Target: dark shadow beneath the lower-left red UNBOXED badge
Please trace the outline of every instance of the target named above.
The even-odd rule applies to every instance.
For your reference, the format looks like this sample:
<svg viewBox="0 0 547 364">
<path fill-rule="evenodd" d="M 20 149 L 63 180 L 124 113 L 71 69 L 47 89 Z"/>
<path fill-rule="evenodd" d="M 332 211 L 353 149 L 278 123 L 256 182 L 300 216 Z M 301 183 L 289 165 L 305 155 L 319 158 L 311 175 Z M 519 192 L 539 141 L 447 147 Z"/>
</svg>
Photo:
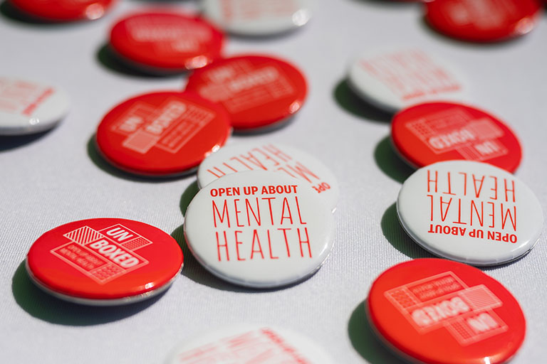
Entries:
<svg viewBox="0 0 547 364">
<path fill-rule="evenodd" d="M 120 306 L 73 304 L 51 296 L 36 287 L 36 284 L 28 277 L 25 262 L 21 262 L 16 269 L 11 280 L 11 292 L 21 309 L 36 319 L 68 326 L 90 326 L 125 319 L 147 309 L 165 294 L 164 291 L 145 301 Z"/>
</svg>

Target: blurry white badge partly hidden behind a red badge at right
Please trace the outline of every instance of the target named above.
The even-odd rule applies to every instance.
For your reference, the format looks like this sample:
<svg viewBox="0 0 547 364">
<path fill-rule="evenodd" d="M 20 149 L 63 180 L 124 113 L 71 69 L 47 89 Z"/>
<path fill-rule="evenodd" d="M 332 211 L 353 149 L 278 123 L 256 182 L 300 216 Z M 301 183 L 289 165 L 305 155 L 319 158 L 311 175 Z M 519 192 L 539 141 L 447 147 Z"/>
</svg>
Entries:
<svg viewBox="0 0 547 364">
<path fill-rule="evenodd" d="M 432 100 L 463 100 L 468 89 L 456 68 L 420 49 L 363 53 L 350 65 L 348 85 L 387 112 Z"/>
</svg>

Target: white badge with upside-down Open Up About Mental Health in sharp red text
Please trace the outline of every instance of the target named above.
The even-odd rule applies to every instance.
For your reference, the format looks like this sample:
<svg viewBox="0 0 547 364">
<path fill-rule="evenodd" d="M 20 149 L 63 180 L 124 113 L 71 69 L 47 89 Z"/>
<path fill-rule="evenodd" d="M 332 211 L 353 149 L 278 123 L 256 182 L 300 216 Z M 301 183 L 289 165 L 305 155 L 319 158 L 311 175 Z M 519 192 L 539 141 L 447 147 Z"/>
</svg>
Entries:
<svg viewBox="0 0 547 364">
<path fill-rule="evenodd" d="M 543 227 L 533 192 L 511 173 L 475 161 L 417 170 L 397 198 L 402 227 L 435 255 L 496 265 L 526 255 Z"/>
</svg>

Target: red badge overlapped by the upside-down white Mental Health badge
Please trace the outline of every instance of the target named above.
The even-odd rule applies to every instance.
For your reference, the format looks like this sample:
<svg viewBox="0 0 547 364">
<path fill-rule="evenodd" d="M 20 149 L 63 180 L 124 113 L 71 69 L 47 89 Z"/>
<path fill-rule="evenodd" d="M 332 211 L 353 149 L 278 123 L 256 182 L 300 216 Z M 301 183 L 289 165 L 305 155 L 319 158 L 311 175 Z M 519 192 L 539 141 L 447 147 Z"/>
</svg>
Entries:
<svg viewBox="0 0 547 364">
<path fill-rule="evenodd" d="M 521 144 L 514 132 L 486 112 L 461 104 L 432 102 L 395 115 L 391 138 L 403 159 L 416 167 L 467 159 L 514 172 Z"/>
</svg>

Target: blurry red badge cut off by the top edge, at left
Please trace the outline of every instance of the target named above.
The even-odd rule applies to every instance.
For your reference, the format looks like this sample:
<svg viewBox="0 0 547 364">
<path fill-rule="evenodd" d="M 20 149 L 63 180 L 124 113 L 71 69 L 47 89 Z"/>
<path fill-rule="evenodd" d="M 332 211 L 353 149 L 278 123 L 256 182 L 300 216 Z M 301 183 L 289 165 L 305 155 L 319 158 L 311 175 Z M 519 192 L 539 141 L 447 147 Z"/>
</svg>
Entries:
<svg viewBox="0 0 547 364">
<path fill-rule="evenodd" d="M 10 0 L 16 8 L 50 21 L 94 20 L 100 18 L 117 0 Z"/>
</svg>

